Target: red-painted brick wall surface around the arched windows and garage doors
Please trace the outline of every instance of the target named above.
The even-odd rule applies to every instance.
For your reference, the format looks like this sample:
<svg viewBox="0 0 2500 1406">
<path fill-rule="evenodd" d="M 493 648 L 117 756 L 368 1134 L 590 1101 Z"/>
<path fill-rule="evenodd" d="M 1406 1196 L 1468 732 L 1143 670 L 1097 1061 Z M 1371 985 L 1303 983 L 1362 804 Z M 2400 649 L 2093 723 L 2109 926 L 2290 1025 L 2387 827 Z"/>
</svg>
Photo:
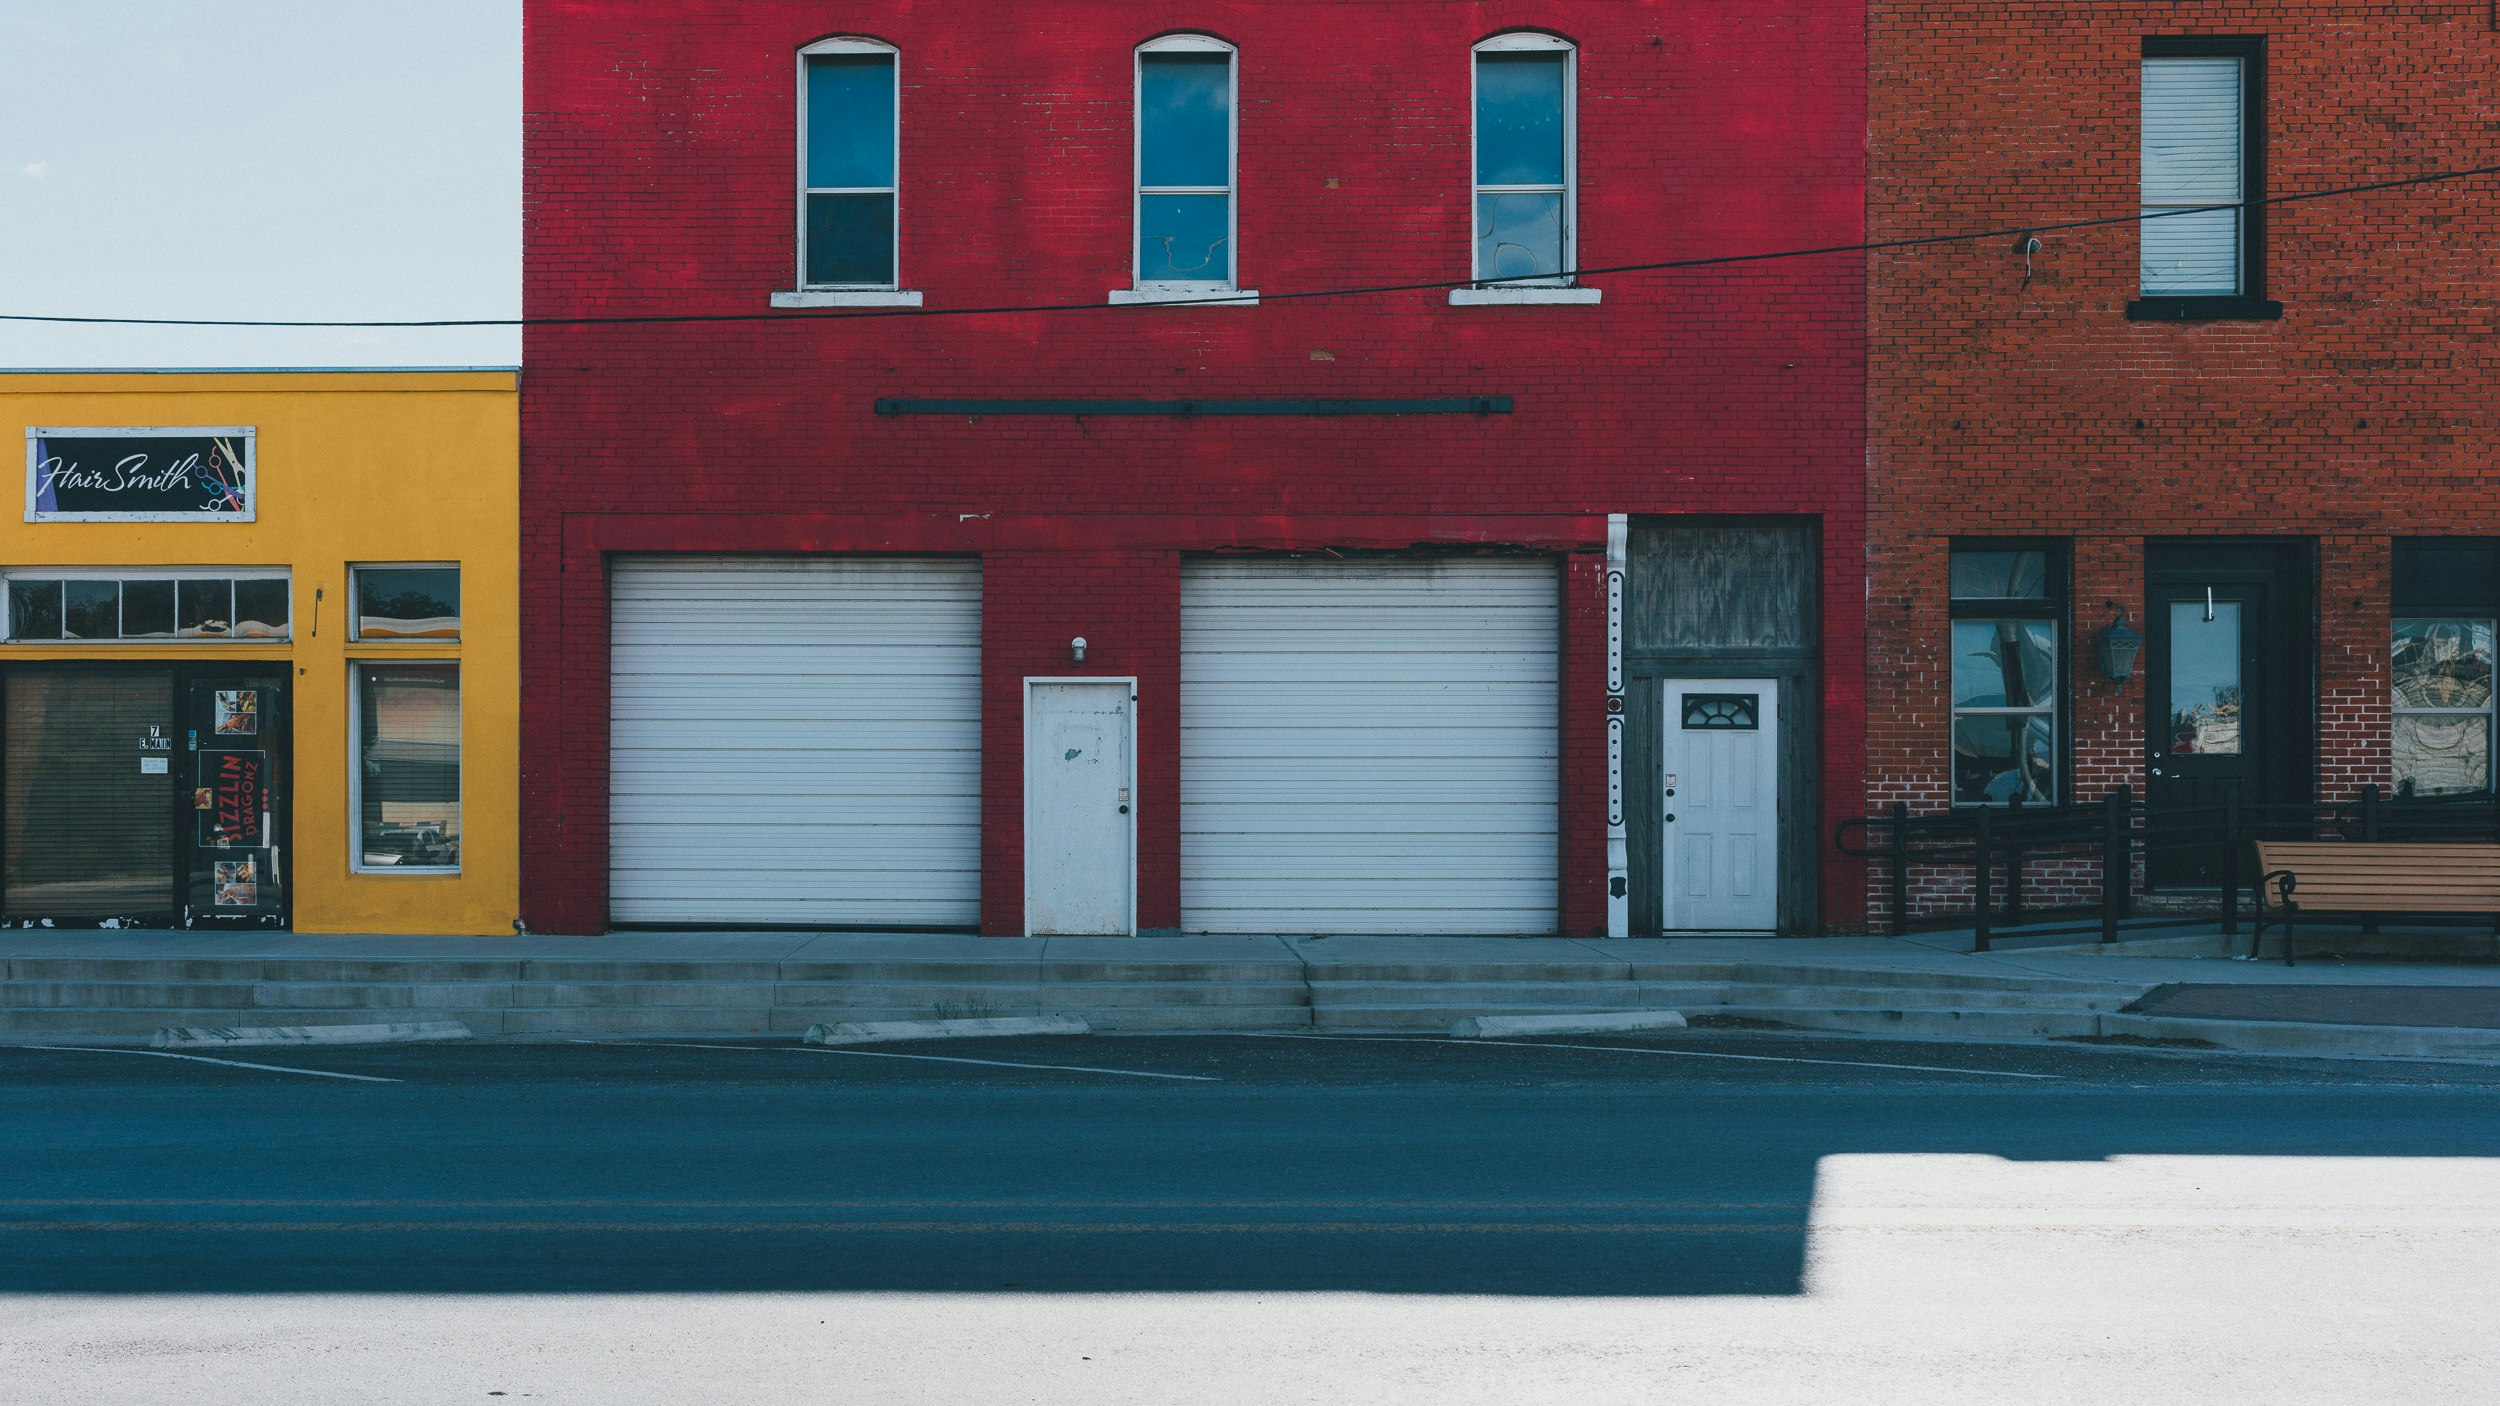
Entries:
<svg viewBox="0 0 2500 1406">
<path fill-rule="evenodd" d="M 900 48 L 900 275 L 948 313 L 528 333 L 532 926 L 605 926 L 610 550 L 982 553 L 992 603 L 1015 583 L 1015 608 L 985 633 L 998 748 L 1018 736 L 998 711 L 1012 680 L 1050 663 L 1068 633 L 1092 638 L 1078 620 L 1140 630 L 1118 673 L 1175 678 L 1178 603 L 1160 583 L 1180 550 L 1480 540 L 1572 553 L 1602 545 L 1605 513 L 1812 515 L 1830 600 L 1825 823 L 1855 811 L 1858 258 L 1602 275 L 1590 280 L 1605 290 L 1598 308 L 1450 308 L 1440 290 L 1282 298 L 1468 275 L 1470 45 L 1508 28 L 1580 45 L 1582 265 L 1858 240 L 1855 3 L 882 0 L 832 13 L 800 0 L 528 0 L 525 25 L 532 315 L 765 313 L 792 285 L 795 50 L 832 33 Z M 1170 30 L 1240 45 L 1238 263 L 1240 283 L 1268 295 L 1260 308 L 1105 305 L 1132 260 L 1132 48 Z M 1000 305 L 1062 310 L 952 315 Z M 872 413 L 880 395 L 1478 393 L 1512 395 L 1518 410 Z M 1125 605 L 1122 573 L 1135 590 Z M 1578 590 L 1580 568 L 1570 580 Z M 1582 608 L 1575 595 L 1565 645 L 1572 931 L 1602 923 L 1602 678 L 1580 683 Z M 1602 620 L 1595 638 L 1602 668 Z M 1178 771 L 1155 753 L 1178 751 L 1178 733 L 1152 738 L 1172 721 L 1170 698 L 1140 708 L 1145 771 Z M 1018 753 L 1008 746 L 985 771 L 990 931 L 1018 926 Z M 1140 918 L 1178 921 L 1178 878 L 1152 853 L 1165 841 L 1142 833 L 1140 846 Z M 1852 866 L 1832 863 L 1825 906 L 1860 908 Z"/>
</svg>

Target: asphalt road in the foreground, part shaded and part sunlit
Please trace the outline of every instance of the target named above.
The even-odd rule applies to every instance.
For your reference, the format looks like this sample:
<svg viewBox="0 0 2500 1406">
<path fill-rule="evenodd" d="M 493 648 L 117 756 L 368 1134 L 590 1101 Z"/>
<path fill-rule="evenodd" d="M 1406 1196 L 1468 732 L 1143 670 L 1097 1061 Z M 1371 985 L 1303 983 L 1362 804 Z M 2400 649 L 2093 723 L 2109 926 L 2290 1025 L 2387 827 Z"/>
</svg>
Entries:
<svg viewBox="0 0 2500 1406">
<path fill-rule="evenodd" d="M 2500 1393 L 2492 1068 L 1758 1033 L 215 1058 L 0 1048 L 0 1401 Z"/>
</svg>

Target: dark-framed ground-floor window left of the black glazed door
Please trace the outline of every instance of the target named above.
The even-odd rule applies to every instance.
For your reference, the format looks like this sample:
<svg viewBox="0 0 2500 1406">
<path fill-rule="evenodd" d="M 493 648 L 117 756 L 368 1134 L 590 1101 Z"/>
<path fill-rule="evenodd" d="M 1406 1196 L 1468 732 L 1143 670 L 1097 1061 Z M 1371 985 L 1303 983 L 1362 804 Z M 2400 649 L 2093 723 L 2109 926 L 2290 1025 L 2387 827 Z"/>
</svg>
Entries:
<svg viewBox="0 0 2500 1406">
<path fill-rule="evenodd" d="M 1952 801 L 2058 798 L 2058 645 L 2065 553 L 2055 543 L 1952 548 Z"/>
</svg>

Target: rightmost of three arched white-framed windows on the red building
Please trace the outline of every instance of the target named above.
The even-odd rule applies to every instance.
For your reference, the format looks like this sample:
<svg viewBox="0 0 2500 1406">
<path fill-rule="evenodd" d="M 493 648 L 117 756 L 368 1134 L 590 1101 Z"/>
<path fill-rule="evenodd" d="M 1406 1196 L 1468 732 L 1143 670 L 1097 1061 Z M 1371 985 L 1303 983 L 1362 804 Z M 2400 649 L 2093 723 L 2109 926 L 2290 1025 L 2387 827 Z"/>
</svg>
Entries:
<svg viewBox="0 0 2500 1406">
<path fill-rule="evenodd" d="M 1515 33 L 1475 45 L 1475 278 L 1570 283 L 1572 128 L 1570 43 Z"/>
</svg>

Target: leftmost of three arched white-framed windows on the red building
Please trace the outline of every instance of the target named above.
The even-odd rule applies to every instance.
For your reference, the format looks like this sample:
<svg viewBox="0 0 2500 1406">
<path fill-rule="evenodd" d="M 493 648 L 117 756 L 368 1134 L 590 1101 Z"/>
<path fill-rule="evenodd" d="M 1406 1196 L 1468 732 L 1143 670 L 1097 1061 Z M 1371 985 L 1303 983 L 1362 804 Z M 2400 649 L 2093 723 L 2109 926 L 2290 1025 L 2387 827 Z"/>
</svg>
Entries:
<svg viewBox="0 0 2500 1406">
<path fill-rule="evenodd" d="M 895 288 L 895 50 L 800 50 L 800 288 Z"/>
</svg>

